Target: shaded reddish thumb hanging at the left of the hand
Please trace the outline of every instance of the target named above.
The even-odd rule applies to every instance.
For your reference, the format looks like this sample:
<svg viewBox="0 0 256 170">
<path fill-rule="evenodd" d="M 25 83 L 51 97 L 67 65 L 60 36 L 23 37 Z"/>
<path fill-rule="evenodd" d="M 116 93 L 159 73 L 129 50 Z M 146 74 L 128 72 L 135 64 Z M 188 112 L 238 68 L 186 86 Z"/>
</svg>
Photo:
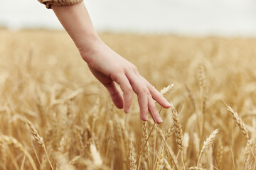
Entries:
<svg viewBox="0 0 256 170">
<path fill-rule="evenodd" d="M 104 84 L 107 88 L 107 91 L 110 92 L 110 97 L 117 108 L 123 108 L 124 102 L 120 91 L 117 89 L 117 86 L 112 81 L 110 84 Z"/>
</svg>

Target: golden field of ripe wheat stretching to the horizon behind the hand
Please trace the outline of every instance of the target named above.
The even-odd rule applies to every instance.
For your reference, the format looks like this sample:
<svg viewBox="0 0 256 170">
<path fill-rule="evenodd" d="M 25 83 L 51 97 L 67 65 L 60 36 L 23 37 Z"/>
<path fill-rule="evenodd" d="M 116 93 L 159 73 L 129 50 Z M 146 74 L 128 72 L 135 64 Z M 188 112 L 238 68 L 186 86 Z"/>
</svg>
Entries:
<svg viewBox="0 0 256 170">
<path fill-rule="evenodd" d="M 172 104 L 112 104 L 62 31 L 0 30 L 0 169 L 255 169 L 256 39 L 100 33 Z M 162 90 L 161 90 L 162 89 Z"/>
</svg>

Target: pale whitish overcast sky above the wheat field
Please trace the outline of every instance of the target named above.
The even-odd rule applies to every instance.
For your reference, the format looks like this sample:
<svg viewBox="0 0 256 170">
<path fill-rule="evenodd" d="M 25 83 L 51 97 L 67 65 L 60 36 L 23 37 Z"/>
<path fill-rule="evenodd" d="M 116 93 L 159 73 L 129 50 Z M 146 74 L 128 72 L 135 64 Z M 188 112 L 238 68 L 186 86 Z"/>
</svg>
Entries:
<svg viewBox="0 0 256 170">
<path fill-rule="evenodd" d="M 85 0 L 97 31 L 256 37 L 255 0 Z M 0 26 L 63 29 L 36 0 L 0 0 Z"/>
</svg>

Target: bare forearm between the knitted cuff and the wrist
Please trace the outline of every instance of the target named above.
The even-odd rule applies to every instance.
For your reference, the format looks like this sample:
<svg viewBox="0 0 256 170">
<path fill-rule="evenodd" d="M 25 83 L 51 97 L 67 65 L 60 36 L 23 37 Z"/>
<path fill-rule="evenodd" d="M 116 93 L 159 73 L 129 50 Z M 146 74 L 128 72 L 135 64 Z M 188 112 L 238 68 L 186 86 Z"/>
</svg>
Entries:
<svg viewBox="0 0 256 170">
<path fill-rule="evenodd" d="M 93 48 L 92 46 L 97 44 L 96 42 L 101 41 L 92 26 L 92 21 L 84 3 L 81 2 L 73 6 L 51 7 L 80 52 L 90 50 Z"/>
</svg>

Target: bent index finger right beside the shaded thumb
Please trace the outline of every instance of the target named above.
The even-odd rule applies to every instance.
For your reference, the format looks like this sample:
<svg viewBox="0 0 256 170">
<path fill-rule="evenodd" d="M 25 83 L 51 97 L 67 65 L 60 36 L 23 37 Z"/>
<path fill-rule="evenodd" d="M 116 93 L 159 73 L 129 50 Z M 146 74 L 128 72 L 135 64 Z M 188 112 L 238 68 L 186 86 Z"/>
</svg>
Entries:
<svg viewBox="0 0 256 170">
<path fill-rule="evenodd" d="M 117 84 L 123 91 L 124 96 L 124 112 L 129 113 L 132 105 L 132 86 L 125 75 L 117 77 Z"/>
</svg>

